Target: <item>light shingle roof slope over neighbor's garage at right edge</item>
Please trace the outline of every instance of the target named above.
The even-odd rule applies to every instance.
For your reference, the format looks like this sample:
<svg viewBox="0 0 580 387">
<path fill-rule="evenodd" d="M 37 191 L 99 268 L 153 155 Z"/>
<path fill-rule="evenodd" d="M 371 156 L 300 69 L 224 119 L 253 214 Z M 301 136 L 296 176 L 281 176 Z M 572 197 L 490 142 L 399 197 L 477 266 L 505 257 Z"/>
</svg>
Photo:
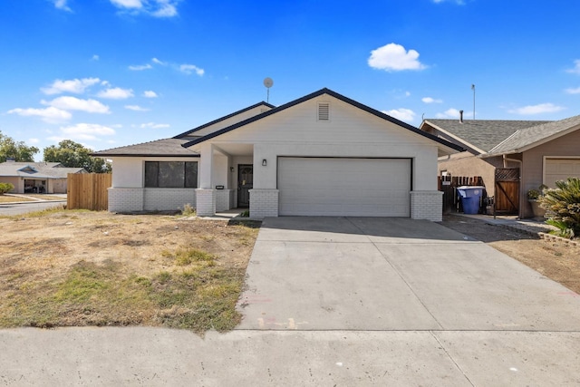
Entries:
<svg viewBox="0 0 580 387">
<path fill-rule="evenodd" d="M 520 153 L 579 129 L 580 115 L 520 129 L 489 150 L 486 156 Z"/>
</svg>

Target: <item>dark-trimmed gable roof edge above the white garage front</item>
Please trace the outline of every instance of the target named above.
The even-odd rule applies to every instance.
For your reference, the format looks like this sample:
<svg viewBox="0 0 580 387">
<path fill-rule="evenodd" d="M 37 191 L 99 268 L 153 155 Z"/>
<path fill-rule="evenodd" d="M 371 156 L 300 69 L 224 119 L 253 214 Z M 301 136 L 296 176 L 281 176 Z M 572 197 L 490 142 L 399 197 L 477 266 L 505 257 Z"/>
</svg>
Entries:
<svg viewBox="0 0 580 387">
<path fill-rule="evenodd" d="M 189 148 L 190 146 L 196 145 L 196 144 L 198 144 L 200 142 L 204 142 L 204 141 L 207 141 L 207 140 L 211 140 L 211 139 L 213 139 L 215 137 L 218 137 L 221 134 L 227 133 L 228 131 L 234 131 L 237 128 L 246 126 L 246 125 L 248 125 L 248 124 L 250 124 L 252 122 L 258 121 L 258 120 L 262 120 L 262 119 L 264 119 L 264 118 L 266 118 L 266 117 L 268 117 L 268 116 L 270 116 L 272 114 L 275 114 L 275 113 L 277 113 L 279 111 L 285 111 L 286 109 L 291 108 L 291 107 L 293 107 L 293 106 L 295 106 L 295 105 L 297 105 L 299 103 L 306 102 L 308 100 L 312 100 L 313 98 L 319 97 L 319 96 L 321 96 L 323 94 L 330 95 L 330 96 L 336 98 L 337 100 L 340 100 L 342 102 L 348 103 L 348 104 L 350 104 L 350 105 L 352 105 L 352 106 L 354 106 L 354 107 L 356 107 L 358 109 L 361 109 L 362 111 L 369 112 L 372 115 L 374 115 L 376 117 L 379 117 L 382 120 L 391 121 L 392 123 L 395 123 L 396 125 L 401 126 L 402 128 L 405 128 L 405 129 L 407 129 L 409 131 L 412 131 L 412 132 L 414 132 L 416 134 L 419 134 L 420 136 L 426 137 L 426 138 L 428 138 L 430 140 L 434 140 L 436 142 L 439 142 L 441 145 L 444 145 L 446 147 L 449 147 L 449 148 L 451 148 L 453 150 L 459 150 L 459 151 L 464 150 L 461 146 L 459 146 L 457 144 L 454 144 L 452 142 L 449 142 L 448 140 L 440 139 L 439 137 L 433 136 L 432 134 L 430 134 L 430 133 L 428 133 L 426 131 L 420 131 L 420 129 L 415 128 L 414 126 L 412 126 L 412 125 L 410 125 L 410 124 L 408 124 L 406 122 L 399 121 L 399 120 L 391 117 L 390 115 L 383 113 L 382 111 L 377 111 L 375 109 L 372 109 L 372 108 L 370 108 L 370 107 L 368 107 L 366 105 L 363 105 L 360 102 L 356 102 L 354 100 L 351 100 L 350 98 L 347 98 L 347 97 L 343 96 L 342 94 L 339 94 L 338 92 L 333 92 L 332 90 L 327 89 L 327 88 L 323 88 L 323 89 L 321 89 L 321 90 L 319 90 L 317 92 L 313 92 L 313 93 L 310 93 L 308 95 L 305 95 L 304 97 L 298 98 L 295 101 L 287 102 L 284 105 L 280 105 L 280 106 L 278 106 L 278 107 L 276 107 L 276 108 L 274 108 L 274 109 L 272 109 L 270 111 L 265 111 L 265 112 L 263 112 L 261 114 L 257 114 L 254 117 L 251 117 L 251 118 L 249 118 L 247 120 L 244 120 L 244 121 L 237 122 L 237 123 L 235 123 L 233 125 L 228 126 L 227 128 L 221 129 L 219 131 L 214 131 L 212 133 L 209 133 L 206 136 L 200 137 L 200 138 L 195 139 L 195 140 L 190 140 L 189 142 L 186 142 L 186 143 L 182 144 L 181 146 L 182 147 L 185 147 L 185 148 Z"/>
</svg>

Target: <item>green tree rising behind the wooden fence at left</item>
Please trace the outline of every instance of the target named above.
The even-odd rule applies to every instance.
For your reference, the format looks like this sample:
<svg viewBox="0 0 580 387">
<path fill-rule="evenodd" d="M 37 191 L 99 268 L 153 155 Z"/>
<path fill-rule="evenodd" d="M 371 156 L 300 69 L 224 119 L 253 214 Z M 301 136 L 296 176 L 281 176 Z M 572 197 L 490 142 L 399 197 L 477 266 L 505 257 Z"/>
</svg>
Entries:
<svg viewBox="0 0 580 387">
<path fill-rule="evenodd" d="M 51 145 L 44 148 L 44 161 L 60 162 L 68 168 L 84 168 L 92 173 L 111 172 L 111 163 L 101 158 L 93 158 L 92 150 L 73 140 L 62 140 L 58 147 Z"/>
</svg>

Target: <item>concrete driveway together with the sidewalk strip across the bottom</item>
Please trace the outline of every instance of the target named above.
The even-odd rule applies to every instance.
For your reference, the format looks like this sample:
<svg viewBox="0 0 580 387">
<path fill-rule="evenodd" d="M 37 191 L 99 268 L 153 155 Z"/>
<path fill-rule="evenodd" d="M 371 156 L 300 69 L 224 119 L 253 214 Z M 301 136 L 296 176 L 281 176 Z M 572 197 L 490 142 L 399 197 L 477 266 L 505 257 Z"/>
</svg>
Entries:
<svg viewBox="0 0 580 387">
<path fill-rule="evenodd" d="M 0 330 L 7 385 L 580 385 L 580 296 L 405 218 L 266 218 L 228 334 Z"/>
</svg>

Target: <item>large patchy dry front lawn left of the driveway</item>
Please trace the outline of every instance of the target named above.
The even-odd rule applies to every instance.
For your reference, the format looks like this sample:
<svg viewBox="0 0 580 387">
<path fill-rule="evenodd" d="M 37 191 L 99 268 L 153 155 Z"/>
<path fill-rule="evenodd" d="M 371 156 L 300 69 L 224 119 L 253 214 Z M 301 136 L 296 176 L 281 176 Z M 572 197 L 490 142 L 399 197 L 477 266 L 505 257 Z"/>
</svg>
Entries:
<svg viewBox="0 0 580 387">
<path fill-rule="evenodd" d="M 47 212 L 0 218 L 0 326 L 231 329 L 256 224 Z"/>
</svg>

